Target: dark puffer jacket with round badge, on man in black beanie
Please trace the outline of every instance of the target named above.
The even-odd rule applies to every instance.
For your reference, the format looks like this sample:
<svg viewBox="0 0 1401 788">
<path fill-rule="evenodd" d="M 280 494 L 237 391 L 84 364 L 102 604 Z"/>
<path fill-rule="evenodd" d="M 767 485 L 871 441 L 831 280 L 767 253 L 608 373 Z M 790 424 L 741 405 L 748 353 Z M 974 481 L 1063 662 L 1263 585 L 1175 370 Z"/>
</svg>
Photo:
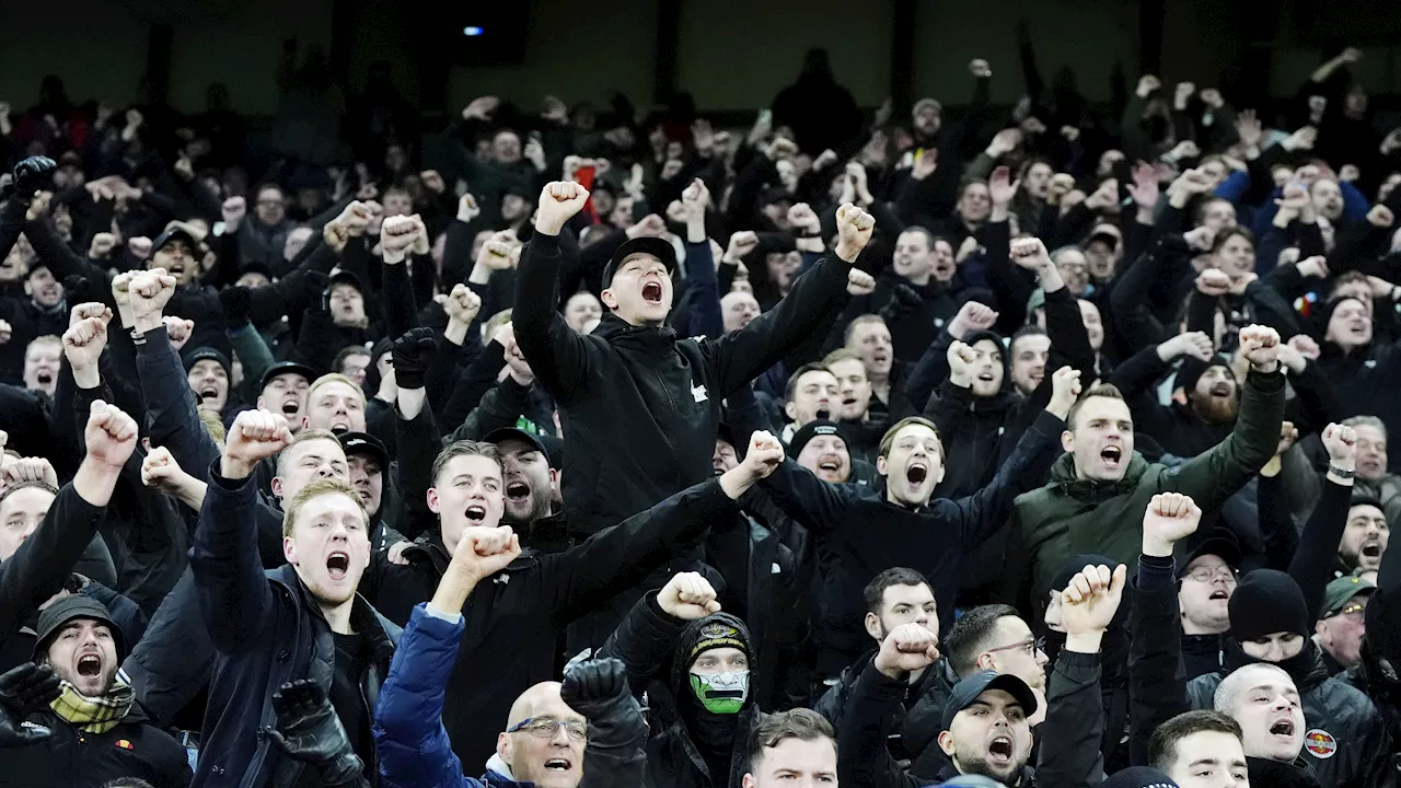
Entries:
<svg viewBox="0 0 1401 788">
<path fill-rule="evenodd" d="M 1227 672 L 1257 660 L 1234 641 L 1226 642 Z M 1331 788 L 1386 788 L 1394 785 L 1390 764 L 1391 736 L 1372 700 L 1356 687 L 1328 676 L 1323 652 L 1313 641 L 1304 651 L 1276 663 L 1299 688 L 1304 709 L 1304 749 L 1318 782 Z M 1192 708 L 1213 708 L 1223 673 L 1206 673 L 1187 684 Z"/>
</svg>

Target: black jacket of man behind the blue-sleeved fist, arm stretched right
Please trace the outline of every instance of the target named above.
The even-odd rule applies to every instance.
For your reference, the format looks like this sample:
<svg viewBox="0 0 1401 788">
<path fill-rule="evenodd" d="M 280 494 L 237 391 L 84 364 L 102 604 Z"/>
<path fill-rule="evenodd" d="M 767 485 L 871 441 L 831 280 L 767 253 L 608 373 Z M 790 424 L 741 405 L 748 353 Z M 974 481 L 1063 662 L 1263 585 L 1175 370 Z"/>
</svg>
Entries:
<svg viewBox="0 0 1401 788">
<path fill-rule="evenodd" d="M 712 480 L 565 552 L 527 552 L 478 583 L 462 609 L 467 628 L 443 714 L 462 763 L 468 768 L 486 763 L 496 747 L 496 726 L 516 697 L 558 676 L 555 644 L 570 621 L 632 587 L 672 552 L 698 543 L 712 522 L 734 512 L 734 502 Z M 436 534 L 403 555 L 408 566 L 375 555 L 360 582 L 361 593 L 395 623 L 408 623 L 413 606 L 433 597 L 450 561 Z M 492 677 L 489 687 L 483 676 Z"/>
</svg>

